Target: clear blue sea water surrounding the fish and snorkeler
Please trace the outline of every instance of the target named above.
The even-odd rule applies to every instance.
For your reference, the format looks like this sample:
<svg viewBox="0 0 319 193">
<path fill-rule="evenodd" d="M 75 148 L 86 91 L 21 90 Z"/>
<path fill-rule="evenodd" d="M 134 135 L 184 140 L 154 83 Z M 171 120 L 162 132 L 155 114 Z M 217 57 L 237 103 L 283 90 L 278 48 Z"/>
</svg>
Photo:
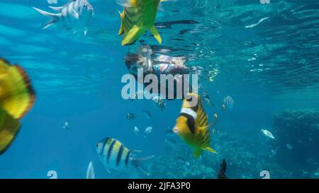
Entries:
<svg viewBox="0 0 319 193">
<path fill-rule="evenodd" d="M 117 35 L 121 6 L 111 0 L 90 3 L 94 16 L 83 37 L 61 28 L 41 30 L 46 18 L 31 6 L 50 11 L 46 1 L 0 0 L 0 56 L 26 69 L 36 93 L 21 131 L 0 156 L 0 178 L 50 178 L 50 170 L 58 178 L 85 178 L 90 161 L 96 178 L 147 177 L 138 170 L 109 174 L 96 153 L 96 143 L 106 136 L 142 150 L 138 156 L 155 155 L 147 163 L 150 178 L 216 178 L 223 158 L 230 178 L 262 178 L 262 170 L 271 178 L 319 178 L 318 1 L 164 2 L 155 23 L 162 45 L 147 33 L 128 47 Z M 195 159 L 177 136 L 169 136 L 176 144 L 165 142 L 181 100 L 166 101 L 164 111 L 150 100 L 123 100 L 121 77 L 128 73 L 123 58 L 140 44 L 203 68 L 199 81 L 216 105 L 205 104 L 206 113 L 209 120 L 213 112 L 219 115 L 211 137 L 217 155 L 205 152 Z M 223 112 L 228 95 L 235 103 Z M 291 112 L 279 116 L 286 122 L 275 122 L 283 110 Z M 124 119 L 128 112 L 136 119 Z M 63 129 L 65 122 L 69 129 Z M 144 137 L 149 126 L 153 131 Z M 178 156 L 189 161 L 189 170 L 177 163 Z"/>
</svg>

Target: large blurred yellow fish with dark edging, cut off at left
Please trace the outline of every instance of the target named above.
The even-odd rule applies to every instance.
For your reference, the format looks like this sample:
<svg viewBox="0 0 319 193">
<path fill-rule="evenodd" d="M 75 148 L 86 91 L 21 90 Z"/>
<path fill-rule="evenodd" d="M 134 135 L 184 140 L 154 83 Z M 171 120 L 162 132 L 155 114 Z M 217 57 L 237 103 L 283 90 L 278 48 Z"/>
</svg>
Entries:
<svg viewBox="0 0 319 193">
<path fill-rule="evenodd" d="M 26 72 L 0 58 L 0 154 L 21 127 L 19 119 L 33 107 L 35 93 Z"/>
</svg>

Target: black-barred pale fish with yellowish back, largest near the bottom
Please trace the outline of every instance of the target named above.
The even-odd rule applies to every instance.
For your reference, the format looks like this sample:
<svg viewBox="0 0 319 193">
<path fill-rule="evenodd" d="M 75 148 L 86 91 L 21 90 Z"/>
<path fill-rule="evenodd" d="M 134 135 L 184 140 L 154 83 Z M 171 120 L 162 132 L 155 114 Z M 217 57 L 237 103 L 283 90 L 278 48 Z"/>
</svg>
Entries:
<svg viewBox="0 0 319 193">
<path fill-rule="evenodd" d="M 113 139 L 111 137 L 102 139 L 98 144 L 96 144 L 96 151 L 99 154 L 99 158 L 106 170 L 108 170 L 108 168 L 112 168 L 115 170 L 125 171 L 130 168 L 137 168 L 145 175 L 150 175 L 150 173 L 142 166 L 142 162 L 149 160 L 154 156 L 134 158 L 134 153 L 140 153 L 140 151 L 130 150 L 117 139 Z"/>
</svg>

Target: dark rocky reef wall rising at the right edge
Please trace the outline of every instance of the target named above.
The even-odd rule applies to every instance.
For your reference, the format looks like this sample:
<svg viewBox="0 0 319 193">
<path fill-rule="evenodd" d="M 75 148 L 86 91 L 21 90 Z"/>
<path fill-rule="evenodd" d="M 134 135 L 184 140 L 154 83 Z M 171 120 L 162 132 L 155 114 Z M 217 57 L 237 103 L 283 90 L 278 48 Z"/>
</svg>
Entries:
<svg viewBox="0 0 319 193">
<path fill-rule="evenodd" d="M 274 114 L 276 163 L 294 177 L 319 177 L 319 110 L 283 110 Z"/>
</svg>

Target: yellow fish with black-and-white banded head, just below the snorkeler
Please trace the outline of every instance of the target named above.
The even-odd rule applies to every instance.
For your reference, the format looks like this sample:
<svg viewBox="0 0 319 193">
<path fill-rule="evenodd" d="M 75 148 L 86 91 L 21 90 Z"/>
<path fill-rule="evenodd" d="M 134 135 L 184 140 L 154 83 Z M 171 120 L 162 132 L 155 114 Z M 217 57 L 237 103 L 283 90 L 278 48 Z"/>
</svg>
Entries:
<svg viewBox="0 0 319 193">
<path fill-rule="evenodd" d="M 195 158 L 201 156 L 203 150 L 216 153 L 210 147 L 211 136 L 208 128 L 208 118 L 201 103 L 201 97 L 197 93 L 187 94 L 188 98 L 184 99 L 181 106 L 181 114 L 177 118 L 177 124 L 173 131 L 175 134 L 184 139 L 186 144 L 193 149 Z M 192 105 L 191 101 L 197 101 L 196 105 Z"/>
</svg>

